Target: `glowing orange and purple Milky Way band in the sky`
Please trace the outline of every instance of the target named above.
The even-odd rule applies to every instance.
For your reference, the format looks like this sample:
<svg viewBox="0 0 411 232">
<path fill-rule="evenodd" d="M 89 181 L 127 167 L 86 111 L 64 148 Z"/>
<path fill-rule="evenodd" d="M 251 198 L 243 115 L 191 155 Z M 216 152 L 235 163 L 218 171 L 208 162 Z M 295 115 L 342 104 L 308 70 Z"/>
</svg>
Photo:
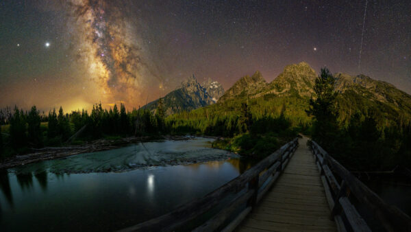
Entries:
<svg viewBox="0 0 411 232">
<path fill-rule="evenodd" d="M 136 28 L 112 1 L 71 1 L 78 61 L 103 93 L 104 102 L 135 105 L 153 75 L 145 65 Z"/>
</svg>

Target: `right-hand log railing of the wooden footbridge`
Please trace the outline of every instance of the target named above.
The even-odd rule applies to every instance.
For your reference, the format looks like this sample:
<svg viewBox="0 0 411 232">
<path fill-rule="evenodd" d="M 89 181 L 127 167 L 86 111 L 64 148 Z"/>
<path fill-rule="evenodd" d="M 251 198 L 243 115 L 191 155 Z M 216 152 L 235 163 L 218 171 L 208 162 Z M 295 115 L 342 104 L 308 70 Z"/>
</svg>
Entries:
<svg viewBox="0 0 411 232">
<path fill-rule="evenodd" d="M 339 231 L 371 231 L 356 207 L 350 202 L 350 194 L 373 214 L 386 231 L 411 231 L 411 218 L 406 213 L 393 205 L 386 204 L 315 141 L 312 141 L 312 151 L 321 172 L 321 181 L 332 211 L 331 218 L 335 220 Z"/>
</svg>

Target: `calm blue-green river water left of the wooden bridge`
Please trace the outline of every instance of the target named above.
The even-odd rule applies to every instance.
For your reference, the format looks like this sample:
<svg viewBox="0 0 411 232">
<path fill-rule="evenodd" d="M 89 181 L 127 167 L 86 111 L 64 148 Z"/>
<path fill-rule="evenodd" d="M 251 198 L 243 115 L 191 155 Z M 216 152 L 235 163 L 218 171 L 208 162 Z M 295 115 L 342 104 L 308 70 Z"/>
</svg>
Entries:
<svg viewBox="0 0 411 232">
<path fill-rule="evenodd" d="M 221 152 L 210 148 L 210 139 L 145 143 L 155 150 L 206 155 Z M 202 145 L 201 145 L 202 144 Z M 123 154 L 129 165 L 130 150 L 140 156 L 140 149 L 130 147 L 113 151 Z M 45 161 L 1 174 L 1 231 L 112 231 L 149 220 L 175 209 L 194 198 L 204 196 L 232 180 L 251 165 L 240 159 L 209 161 L 190 165 L 145 167 L 125 172 L 60 173 L 61 170 L 92 170 L 108 165 L 108 152 L 71 156 L 69 159 Z M 167 156 L 168 154 L 166 154 Z M 78 159 L 92 159 L 98 165 L 79 165 Z M 160 157 L 159 154 L 157 154 Z M 211 157 L 212 154 L 210 154 Z M 214 157 L 215 158 L 215 157 Z M 214 159 L 213 158 L 213 159 Z M 140 158 L 138 158 L 140 159 Z M 146 159 L 147 160 L 147 159 Z M 133 159 L 134 163 L 138 163 Z M 110 165 L 108 165 L 110 166 Z M 58 171 L 55 174 L 55 171 Z M 101 170 L 101 169 L 100 169 Z"/>
</svg>

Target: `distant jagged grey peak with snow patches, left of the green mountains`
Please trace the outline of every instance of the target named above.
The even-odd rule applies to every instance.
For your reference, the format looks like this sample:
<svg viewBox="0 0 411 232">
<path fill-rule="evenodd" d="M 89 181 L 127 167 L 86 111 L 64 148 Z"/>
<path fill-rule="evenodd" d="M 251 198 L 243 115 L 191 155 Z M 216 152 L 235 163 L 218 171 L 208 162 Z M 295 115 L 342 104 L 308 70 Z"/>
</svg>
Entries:
<svg viewBox="0 0 411 232">
<path fill-rule="evenodd" d="M 207 86 L 203 86 L 197 82 L 194 74 L 184 80 L 181 86 L 175 91 L 162 97 L 162 102 L 166 115 L 179 113 L 182 111 L 192 111 L 195 108 L 208 106 L 217 102 L 219 97 L 223 95 L 224 89 L 219 82 L 208 80 L 205 82 Z M 150 102 L 142 108 L 148 108 L 155 112 L 159 100 Z"/>
</svg>

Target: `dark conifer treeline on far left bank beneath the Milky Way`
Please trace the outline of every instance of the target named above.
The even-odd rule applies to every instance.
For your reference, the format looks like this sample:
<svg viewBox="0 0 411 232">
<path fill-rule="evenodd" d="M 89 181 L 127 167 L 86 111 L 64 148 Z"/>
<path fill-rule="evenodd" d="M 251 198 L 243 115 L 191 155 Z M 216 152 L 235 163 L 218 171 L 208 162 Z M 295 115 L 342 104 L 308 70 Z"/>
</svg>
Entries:
<svg viewBox="0 0 411 232">
<path fill-rule="evenodd" d="M 136 108 L 126 111 L 123 104 L 120 109 L 114 104 L 109 110 L 95 104 L 90 113 L 86 110 L 64 113 L 60 107 L 58 112 L 53 109 L 41 116 L 36 106 L 30 111 L 15 106 L 6 117 L 8 124 L 2 126 L 0 132 L 0 152 L 10 156 L 27 152 L 29 148 L 82 143 L 103 137 L 159 135 L 168 132 L 163 108 L 161 100 L 155 114 Z"/>
</svg>

